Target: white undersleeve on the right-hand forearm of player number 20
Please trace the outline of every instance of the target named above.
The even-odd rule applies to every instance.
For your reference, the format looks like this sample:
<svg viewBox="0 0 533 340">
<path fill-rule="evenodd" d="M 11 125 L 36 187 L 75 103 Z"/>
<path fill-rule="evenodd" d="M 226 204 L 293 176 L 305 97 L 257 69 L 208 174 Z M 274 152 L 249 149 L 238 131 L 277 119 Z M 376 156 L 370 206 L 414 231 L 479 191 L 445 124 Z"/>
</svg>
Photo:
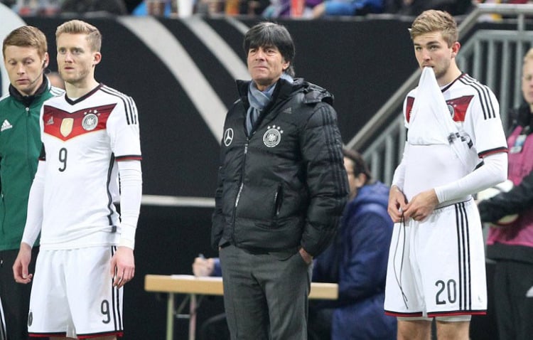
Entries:
<svg viewBox="0 0 533 340">
<path fill-rule="evenodd" d="M 457 181 L 435 188 L 438 203 L 477 193 L 507 179 L 507 152 L 483 157 L 483 166 Z"/>
</svg>

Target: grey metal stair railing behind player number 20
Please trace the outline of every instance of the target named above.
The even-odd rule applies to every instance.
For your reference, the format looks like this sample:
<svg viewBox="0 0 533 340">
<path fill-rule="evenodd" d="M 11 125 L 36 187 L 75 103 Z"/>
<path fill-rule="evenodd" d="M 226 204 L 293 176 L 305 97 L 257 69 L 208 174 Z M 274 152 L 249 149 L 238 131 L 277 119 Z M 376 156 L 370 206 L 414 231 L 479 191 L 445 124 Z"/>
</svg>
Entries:
<svg viewBox="0 0 533 340">
<path fill-rule="evenodd" d="M 517 28 L 476 31 L 461 48 L 457 63 L 463 72 L 495 92 L 500 102 L 502 123 L 507 127 L 507 110 L 522 102 L 519 85 L 522 58 L 533 46 L 533 32 L 526 31 L 526 16 L 533 15 L 533 5 L 479 4 L 461 21 L 458 27 L 460 41 L 480 17 L 490 14 L 516 18 Z M 416 70 L 346 145 L 350 149 L 360 150 L 370 166 L 372 176 L 386 184 L 392 182 L 394 169 L 404 149 L 406 132 L 401 113 L 402 103 L 409 90 L 416 87 L 420 74 L 421 70 Z M 395 115 L 397 117 L 392 119 Z M 375 140 L 370 143 L 371 139 Z"/>
</svg>

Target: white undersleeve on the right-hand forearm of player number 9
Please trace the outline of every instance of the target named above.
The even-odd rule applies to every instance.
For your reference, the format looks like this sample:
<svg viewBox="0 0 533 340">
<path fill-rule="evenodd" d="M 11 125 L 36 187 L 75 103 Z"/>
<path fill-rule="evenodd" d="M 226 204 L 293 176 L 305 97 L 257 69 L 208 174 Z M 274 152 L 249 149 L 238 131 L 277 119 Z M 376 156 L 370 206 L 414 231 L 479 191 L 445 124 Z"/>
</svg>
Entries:
<svg viewBox="0 0 533 340">
<path fill-rule="evenodd" d="M 140 161 L 118 161 L 120 176 L 121 235 L 119 246 L 135 248 L 135 232 L 142 197 Z"/>
</svg>

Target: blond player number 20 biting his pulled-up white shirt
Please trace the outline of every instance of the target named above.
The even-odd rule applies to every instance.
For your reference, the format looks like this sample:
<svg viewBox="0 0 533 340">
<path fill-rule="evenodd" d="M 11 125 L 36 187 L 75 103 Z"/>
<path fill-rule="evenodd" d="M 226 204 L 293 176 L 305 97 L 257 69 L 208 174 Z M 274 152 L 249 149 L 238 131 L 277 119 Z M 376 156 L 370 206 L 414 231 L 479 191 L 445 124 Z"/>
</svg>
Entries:
<svg viewBox="0 0 533 340">
<path fill-rule="evenodd" d="M 507 178 L 499 105 L 461 73 L 456 21 L 424 11 L 410 29 L 423 68 L 404 102 L 407 142 L 394 172 L 385 312 L 399 340 L 468 340 L 470 317 L 485 314 L 485 254 L 472 193 Z"/>
</svg>

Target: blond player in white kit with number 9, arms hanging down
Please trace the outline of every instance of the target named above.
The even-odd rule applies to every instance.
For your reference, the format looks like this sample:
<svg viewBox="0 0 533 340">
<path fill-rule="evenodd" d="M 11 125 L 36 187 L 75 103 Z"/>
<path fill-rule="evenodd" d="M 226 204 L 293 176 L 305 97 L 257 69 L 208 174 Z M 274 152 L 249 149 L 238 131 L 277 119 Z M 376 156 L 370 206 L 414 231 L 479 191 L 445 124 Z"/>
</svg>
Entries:
<svg viewBox="0 0 533 340">
<path fill-rule="evenodd" d="M 95 26 L 68 21 L 55 36 L 66 94 L 41 110 L 43 152 L 14 276 L 21 283 L 33 277 L 31 336 L 112 340 L 123 334 L 122 287 L 135 269 L 142 181 L 137 110 L 131 97 L 95 80 L 102 59 Z M 39 232 L 32 275 L 28 261 Z"/>
</svg>

